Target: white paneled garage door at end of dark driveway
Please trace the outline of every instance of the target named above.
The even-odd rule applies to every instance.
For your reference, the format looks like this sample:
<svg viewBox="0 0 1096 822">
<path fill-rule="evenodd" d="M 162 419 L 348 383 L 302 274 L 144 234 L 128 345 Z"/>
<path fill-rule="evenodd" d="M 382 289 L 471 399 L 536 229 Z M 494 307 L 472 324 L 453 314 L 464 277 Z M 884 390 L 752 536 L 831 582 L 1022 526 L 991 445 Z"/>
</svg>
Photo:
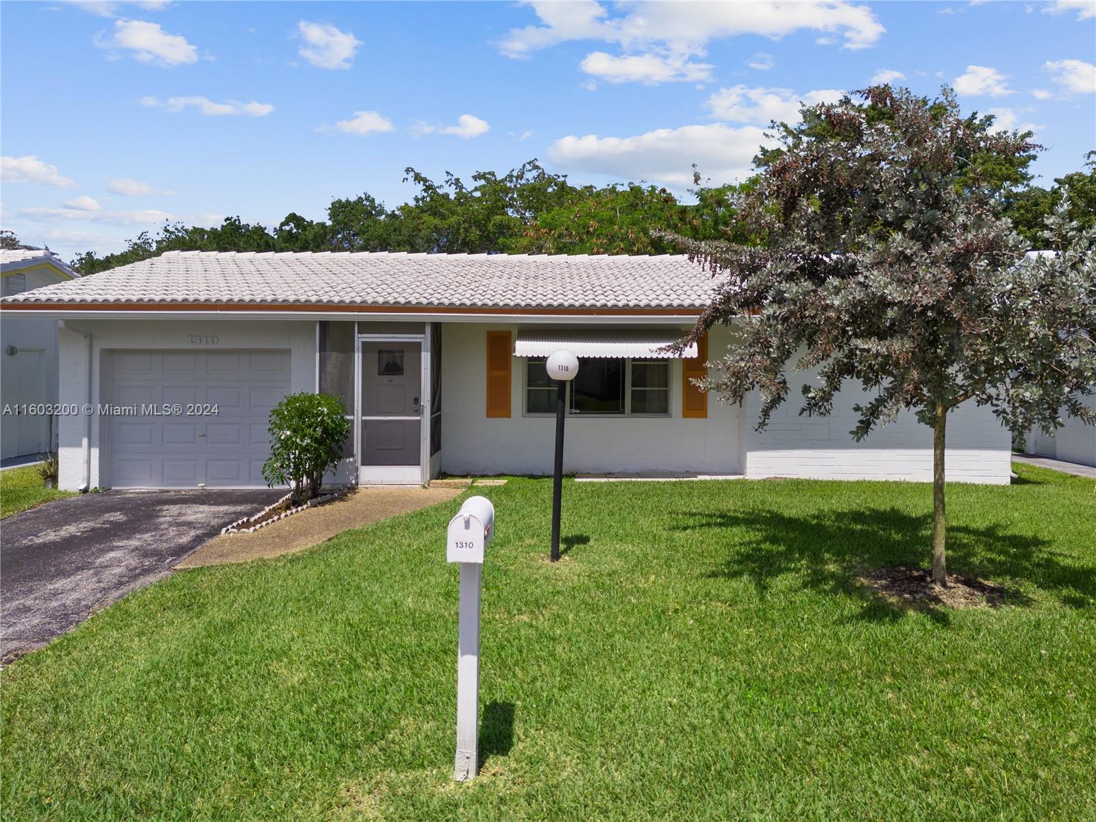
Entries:
<svg viewBox="0 0 1096 822">
<path fill-rule="evenodd" d="M 113 488 L 266 484 L 267 416 L 289 392 L 288 351 L 116 351 L 110 379 L 110 403 L 125 412 L 107 426 Z M 204 406 L 216 413 L 186 413 Z"/>
</svg>

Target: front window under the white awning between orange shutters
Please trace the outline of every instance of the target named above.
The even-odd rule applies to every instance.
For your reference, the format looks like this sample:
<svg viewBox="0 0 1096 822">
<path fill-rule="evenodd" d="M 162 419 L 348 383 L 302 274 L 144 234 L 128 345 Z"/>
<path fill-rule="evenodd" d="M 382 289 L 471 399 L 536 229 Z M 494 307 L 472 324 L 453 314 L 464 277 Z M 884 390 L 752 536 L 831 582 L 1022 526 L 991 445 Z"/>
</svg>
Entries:
<svg viewBox="0 0 1096 822">
<path fill-rule="evenodd" d="M 556 381 L 548 377 L 545 357 L 529 357 L 525 366 L 525 413 L 556 410 Z M 583 359 L 568 386 L 568 413 L 575 416 L 670 414 L 669 359 Z"/>
</svg>

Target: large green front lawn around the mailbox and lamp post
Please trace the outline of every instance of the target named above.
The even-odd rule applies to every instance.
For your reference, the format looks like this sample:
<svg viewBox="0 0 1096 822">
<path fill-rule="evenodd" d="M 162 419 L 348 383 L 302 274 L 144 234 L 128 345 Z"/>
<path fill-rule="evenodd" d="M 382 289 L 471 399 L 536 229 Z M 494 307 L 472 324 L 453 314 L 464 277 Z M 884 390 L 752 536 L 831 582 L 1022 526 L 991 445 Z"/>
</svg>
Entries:
<svg viewBox="0 0 1096 822">
<path fill-rule="evenodd" d="M 1094 819 L 1096 483 L 950 486 L 949 568 L 1007 605 L 906 610 L 928 486 L 477 489 L 479 778 L 450 781 L 457 502 L 178 573 L 2 674 L 11 819 Z"/>
</svg>

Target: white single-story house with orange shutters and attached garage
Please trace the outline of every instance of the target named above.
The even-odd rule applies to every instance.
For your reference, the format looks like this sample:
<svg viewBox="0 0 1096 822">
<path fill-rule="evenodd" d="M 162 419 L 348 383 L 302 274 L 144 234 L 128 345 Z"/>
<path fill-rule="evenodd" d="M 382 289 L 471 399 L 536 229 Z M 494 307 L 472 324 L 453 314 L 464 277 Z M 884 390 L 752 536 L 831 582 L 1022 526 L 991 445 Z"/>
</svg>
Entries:
<svg viewBox="0 0 1096 822">
<path fill-rule="evenodd" d="M 169 252 L 3 313 L 64 322 L 60 400 L 94 410 L 61 418 L 68 489 L 262 486 L 270 409 L 302 390 L 346 406 L 339 479 L 550 473 L 544 357 L 561 347 L 581 359 L 567 471 L 932 479 L 932 431 L 912 414 L 853 441 L 859 388 L 830 418 L 798 415 L 792 398 L 760 433 L 756 397 L 697 390 L 731 331 L 685 358 L 662 347 L 712 288 L 677 255 Z M 963 406 L 949 479 L 1007 483 L 1009 445 L 989 410 Z"/>
</svg>

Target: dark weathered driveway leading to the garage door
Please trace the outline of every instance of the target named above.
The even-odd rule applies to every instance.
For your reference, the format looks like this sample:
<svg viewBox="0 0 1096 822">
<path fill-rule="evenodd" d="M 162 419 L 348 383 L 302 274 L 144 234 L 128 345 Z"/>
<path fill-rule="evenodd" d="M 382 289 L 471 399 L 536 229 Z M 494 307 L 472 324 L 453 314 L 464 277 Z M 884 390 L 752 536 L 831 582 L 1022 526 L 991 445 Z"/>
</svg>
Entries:
<svg viewBox="0 0 1096 822">
<path fill-rule="evenodd" d="M 96 607 L 171 572 L 284 491 L 104 491 L 0 523 L 0 658 L 48 642 Z"/>
</svg>

